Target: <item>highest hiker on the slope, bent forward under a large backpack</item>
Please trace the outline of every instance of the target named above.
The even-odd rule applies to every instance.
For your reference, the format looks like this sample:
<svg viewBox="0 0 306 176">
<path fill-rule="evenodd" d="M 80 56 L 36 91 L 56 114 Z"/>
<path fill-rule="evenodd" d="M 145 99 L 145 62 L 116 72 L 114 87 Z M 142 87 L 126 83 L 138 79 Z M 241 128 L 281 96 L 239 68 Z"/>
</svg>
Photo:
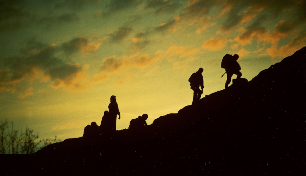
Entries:
<svg viewBox="0 0 306 176">
<path fill-rule="evenodd" d="M 233 74 L 237 74 L 237 78 L 236 78 L 237 80 L 239 80 L 242 76 L 241 72 L 239 71 L 241 70 L 241 67 L 239 63 L 237 62 L 238 58 L 239 56 L 237 54 L 234 54 L 234 56 L 230 54 L 226 54 L 222 59 L 221 67 L 225 68 L 226 75 L 227 75 L 225 88 L 228 88 Z"/>
</svg>

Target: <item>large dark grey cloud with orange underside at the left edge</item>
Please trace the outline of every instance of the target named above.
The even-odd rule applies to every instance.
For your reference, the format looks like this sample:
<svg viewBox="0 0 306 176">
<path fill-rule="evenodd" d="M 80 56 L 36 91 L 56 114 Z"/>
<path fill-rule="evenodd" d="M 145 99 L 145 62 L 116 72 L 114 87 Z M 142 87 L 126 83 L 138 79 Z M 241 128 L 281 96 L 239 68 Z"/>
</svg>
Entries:
<svg viewBox="0 0 306 176">
<path fill-rule="evenodd" d="M 62 87 L 73 91 L 89 88 L 88 75 L 84 72 L 86 67 L 78 63 L 65 63 L 58 53 L 93 52 L 98 46 L 99 43 L 89 42 L 84 36 L 72 39 L 61 47 L 30 40 L 19 55 L 4 59 L 5 67 L 0 69 L 0 91 L 22 91 L 23 83 L 33 84 L 37 79 L 52 81 L 53 88 Z M 32 89 L 28 88 L 19 98 L 32 94 Z"/>
</svg>

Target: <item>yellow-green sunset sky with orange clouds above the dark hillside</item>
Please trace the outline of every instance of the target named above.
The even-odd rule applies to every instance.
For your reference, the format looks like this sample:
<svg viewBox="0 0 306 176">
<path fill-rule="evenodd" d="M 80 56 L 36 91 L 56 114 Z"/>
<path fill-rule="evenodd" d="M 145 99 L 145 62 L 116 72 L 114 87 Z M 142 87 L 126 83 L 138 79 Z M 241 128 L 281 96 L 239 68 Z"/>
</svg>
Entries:
<svg viewBox="0 0 306 176">
<path fill-rule="evenodd" d="M 306 46 L 305 0 L 0 0 L 0 120 L 40 138 L 78 138 L 115 95 L 117 130 L 223 90 L 225 54 L 242 77 Z M 235 75 L 233 76 L 235 78 Z"/>
</svg>

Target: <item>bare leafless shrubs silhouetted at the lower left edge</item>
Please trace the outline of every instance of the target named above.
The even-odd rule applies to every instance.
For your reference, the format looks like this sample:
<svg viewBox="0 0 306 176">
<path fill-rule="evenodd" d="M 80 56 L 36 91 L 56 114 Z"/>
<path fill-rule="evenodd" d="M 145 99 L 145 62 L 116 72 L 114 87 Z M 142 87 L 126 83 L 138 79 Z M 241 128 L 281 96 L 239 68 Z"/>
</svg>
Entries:
<svg viewBox="0 0 306 176">
<path fill-rule="evenodd" d="M 54 139 L 42 139 L 39 138 L 38 133 L 34 130 L 26 127 L 25 131 L 22 129 L 14 129 L 13 121 L 9 128 L 9 122 L 5 120 L 0 124 L 0 154 L 32 154 L 43 147 L 61 142 L 56 136 Z M 41 145 L 41 143 L 43 143 Z M 39 147 L 40 146 L 40 147 Z"/>
</svg>

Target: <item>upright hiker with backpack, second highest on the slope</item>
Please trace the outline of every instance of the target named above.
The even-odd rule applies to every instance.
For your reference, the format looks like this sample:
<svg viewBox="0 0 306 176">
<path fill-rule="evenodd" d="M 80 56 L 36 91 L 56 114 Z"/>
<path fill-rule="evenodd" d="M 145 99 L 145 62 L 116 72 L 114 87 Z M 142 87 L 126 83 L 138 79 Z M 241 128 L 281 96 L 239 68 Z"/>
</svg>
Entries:
<svg viewBox="0 0 306 176">
<path fill-rule="evenodd" d="M 197 100 L 201 98 L 201 95 L 203 93 L 203 68 L 199 68 L 199 70 L 195 73 L 193 73 L 188 81 L 190 82 L 190 88 L 193 90 L 193 99 L 192 104 L 194 104 Z M 201 87 L 201 90 L 199 88 Z"/>
</svg>

